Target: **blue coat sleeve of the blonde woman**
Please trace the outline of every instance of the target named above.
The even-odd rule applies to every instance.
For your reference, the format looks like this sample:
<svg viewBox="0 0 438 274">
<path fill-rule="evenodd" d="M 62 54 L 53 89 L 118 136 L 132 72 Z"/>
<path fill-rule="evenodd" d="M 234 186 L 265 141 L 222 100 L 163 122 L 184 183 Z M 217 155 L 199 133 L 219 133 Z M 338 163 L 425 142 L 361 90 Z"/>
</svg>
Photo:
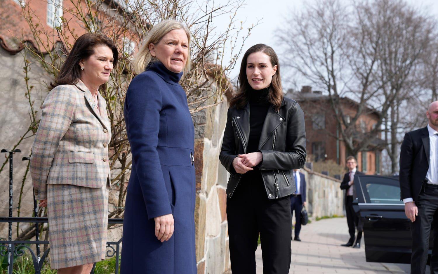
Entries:
<svg viewBox="0 0 438 274">
<path fill-rule="evenodd" d="M 125 121 L 132 162 L 140 182 L 149 219 L 172 214 L 157 151 L 162 95 L 147 74 L 135 77 L 125 99 Z"/>
</svg>

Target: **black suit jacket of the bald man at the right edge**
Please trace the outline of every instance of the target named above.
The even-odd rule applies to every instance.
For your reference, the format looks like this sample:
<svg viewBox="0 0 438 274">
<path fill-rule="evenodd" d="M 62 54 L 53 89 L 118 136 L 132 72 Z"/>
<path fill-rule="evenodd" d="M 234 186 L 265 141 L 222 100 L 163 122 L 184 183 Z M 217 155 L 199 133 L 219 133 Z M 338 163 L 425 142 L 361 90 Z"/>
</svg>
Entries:
<svg viewBox="0 0 438 274">
<path fill-rule="evenodd" d="M 429 170 L 429 131 L 427 127 L 405 134 L 400 148 L 400 192 L 401 199 L 413 198 L 418 194 Z"/>
</svg>

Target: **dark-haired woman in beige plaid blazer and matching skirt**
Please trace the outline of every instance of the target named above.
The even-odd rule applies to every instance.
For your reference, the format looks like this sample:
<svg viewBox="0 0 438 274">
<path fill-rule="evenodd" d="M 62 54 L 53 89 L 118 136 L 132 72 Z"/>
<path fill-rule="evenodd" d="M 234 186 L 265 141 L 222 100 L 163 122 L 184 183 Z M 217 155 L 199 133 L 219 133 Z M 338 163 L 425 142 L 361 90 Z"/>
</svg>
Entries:
<svg viewBox="0 0 438 274">
<path fill-rule="evenodd" d="M 78 38 L 42 105 L 30 171 L 35 199 L 47 206 L 50 267 L 89 274 L 105 259 L 111 124 L 99 90 L 117 47 L 96 34 Z"/>
</svg>

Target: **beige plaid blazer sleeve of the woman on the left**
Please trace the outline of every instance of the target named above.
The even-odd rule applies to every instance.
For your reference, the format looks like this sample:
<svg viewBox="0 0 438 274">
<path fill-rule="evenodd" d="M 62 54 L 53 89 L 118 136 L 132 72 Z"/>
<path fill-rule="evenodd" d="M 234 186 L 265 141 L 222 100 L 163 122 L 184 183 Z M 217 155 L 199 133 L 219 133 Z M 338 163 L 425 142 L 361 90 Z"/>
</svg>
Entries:
<svg viewBox="0 0 438 274">
<path fill-rule="evenodd" d="M 42 104 L 30 158 L 30 173 L 37 200 L 47 198 L 47 176 L 53 157 L 73 121 L 76 98 L 67 87 L 60 85 L 52 89 Z"/>
</svg>

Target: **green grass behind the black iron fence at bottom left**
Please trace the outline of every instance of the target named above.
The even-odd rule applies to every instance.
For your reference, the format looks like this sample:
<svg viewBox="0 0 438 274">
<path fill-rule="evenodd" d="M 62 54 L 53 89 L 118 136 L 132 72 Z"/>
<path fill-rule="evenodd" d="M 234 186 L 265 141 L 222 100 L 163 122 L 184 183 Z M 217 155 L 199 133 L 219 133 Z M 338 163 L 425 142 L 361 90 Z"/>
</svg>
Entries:
<svg viewBox="0 0 438 274">
<path fill-rule="evenodd" d="M 4 258 L 1 258 L 4 259 Z M 120 265 L 120 260 L 119 260 Z M 116 257 L 112 257 L 110 259 L 100 261 L 96 263 L 96 267 L 94 269 L 95 274 L 113 274 L 116 272 Z M 22 257 L 18 257 L 14 260 L 14 274 L 35 274 L 35 270 L 33 268 L 33 263 L 31 256 L 29 254 L 25 254 Z M 50 264 L 43 264 L 43 268 L 41 270 L 41 274 L 56 274 L 57 270 L 50 269 Z M 7 265 L 0 264 L 0 274 L 7 274 Z"/>
</svg>

